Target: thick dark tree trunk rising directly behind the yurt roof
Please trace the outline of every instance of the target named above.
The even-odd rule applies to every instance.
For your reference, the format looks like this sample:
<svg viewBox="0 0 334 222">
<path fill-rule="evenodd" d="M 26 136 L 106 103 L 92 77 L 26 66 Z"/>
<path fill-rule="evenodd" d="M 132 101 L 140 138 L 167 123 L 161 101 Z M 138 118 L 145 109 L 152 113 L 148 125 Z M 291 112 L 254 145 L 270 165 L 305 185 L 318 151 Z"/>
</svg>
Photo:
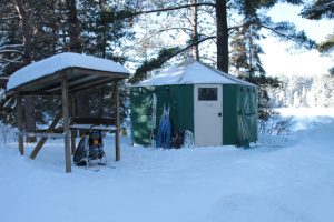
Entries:
<svg viewBox="0 0 334 222">
<path fill-rule="evenodd" d="M 217 69 L 228 72 L 228 29 L 226 0 L 216 0 Z"/>
</svg>

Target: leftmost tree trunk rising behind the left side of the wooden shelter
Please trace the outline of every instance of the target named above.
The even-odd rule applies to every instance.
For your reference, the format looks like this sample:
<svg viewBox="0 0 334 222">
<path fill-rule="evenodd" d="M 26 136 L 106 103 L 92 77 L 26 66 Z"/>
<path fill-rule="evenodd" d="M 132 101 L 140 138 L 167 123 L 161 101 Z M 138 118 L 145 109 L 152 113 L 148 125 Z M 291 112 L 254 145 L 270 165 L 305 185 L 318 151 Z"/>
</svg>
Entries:
<svg viewBox="0 0 334 222">
<path fill-rule="evenodd" d="M 23 2 L 21 0 L 16 0 L 16 9 L 21 20 L 22 33 L 23 33 L 23 67 L 31 63 L 31 36 L 32 27 L 30 23 L 30 18 L 27 14 L 27 9 L 24 9 Z M 26 130 L 28 132 L 36 131 L 36 115 L 35 115 L 35 103 L 32 95 L 24 97 L 24 119 L 26 119 Z M 27 137 L 27 142 L 36 142 L 36 138 Z"/>
</svg>

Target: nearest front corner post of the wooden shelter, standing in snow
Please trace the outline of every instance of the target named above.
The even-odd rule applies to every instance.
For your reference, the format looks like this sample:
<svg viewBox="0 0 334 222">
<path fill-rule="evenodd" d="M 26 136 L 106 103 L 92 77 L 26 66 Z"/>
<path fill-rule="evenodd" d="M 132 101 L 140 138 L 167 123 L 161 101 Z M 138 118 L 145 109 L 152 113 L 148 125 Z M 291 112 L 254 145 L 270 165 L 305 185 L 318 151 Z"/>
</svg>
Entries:
<svg viewBox="0 0 334 222">
<path fill-rule="evenodd" d="M 68 81 L 67 77 L 62 78 L 61 82 L 61 98 L 62 98 L 62 118 L 63 118 L 63 133 L 65 133 L 65 161 L 66 172 L 71 172 L 71 150 L 70 150 L 70 130 L 69 130 L 69 109 L 68 109 Z"/>
</svg>

